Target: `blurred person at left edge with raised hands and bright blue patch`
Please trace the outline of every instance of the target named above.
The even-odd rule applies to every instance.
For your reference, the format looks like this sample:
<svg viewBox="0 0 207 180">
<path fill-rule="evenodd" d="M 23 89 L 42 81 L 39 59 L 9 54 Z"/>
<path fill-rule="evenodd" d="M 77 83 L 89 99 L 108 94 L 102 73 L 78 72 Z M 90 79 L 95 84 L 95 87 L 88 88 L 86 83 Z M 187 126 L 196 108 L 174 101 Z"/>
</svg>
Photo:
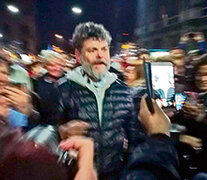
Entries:
<svg viewBox="0 0 207 180">
<path fill-rule="evenodd" d="M 0 96 L 4 105 L 2 122 L 13 127 L 27 126 L 27 118 L 32 113 L 30 95 L 25 85 L 9 81 L 9 64 L 3 58 L 0 58 Z"/>
</svg>

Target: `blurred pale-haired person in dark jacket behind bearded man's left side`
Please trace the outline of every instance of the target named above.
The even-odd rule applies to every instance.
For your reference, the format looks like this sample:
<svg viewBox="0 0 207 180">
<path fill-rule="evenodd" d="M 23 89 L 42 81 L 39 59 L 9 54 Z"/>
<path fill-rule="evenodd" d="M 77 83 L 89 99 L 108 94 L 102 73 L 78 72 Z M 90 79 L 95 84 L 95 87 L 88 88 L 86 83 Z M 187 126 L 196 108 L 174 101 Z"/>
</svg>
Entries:
<svg viewBox="0 0 207 180">
<path fill-rule="evenodd" d="M 67 81 L 63 60 L 59 53 L 51 50 L 42 50 L 41 56 L 47 73 L 36 80 L 35 108 L 40 113 L 40 123 L 56 125 L 59 120 L 57 112 L 61 109 L 59 86 Z"/>
</svg>

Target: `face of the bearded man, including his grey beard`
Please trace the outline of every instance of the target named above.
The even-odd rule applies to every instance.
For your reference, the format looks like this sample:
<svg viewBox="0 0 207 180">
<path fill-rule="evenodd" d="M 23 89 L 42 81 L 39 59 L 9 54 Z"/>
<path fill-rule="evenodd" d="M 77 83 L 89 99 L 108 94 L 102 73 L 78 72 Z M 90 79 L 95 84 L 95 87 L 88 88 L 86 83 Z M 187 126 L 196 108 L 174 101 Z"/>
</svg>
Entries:
<svg viewBox="0 0 207 180">
<path fill-rule="evenodd" d="M 76 58 L 91 78 L 95 81 L 101 80 L 110 67 L 107 41 L 101 39 L 85 40 L 81 52 L 76 51 Z"/>
</svg>

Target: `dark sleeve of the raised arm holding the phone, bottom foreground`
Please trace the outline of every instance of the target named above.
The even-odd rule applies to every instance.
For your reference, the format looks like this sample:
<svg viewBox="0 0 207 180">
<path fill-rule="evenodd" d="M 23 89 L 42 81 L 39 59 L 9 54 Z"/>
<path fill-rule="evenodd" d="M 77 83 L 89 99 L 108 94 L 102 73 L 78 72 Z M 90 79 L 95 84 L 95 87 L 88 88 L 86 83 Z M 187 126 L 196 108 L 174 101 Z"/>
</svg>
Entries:
<svg viewBox="0 0 207 180">
<path fill-rule="evenodd" d="M 165 135 L 154 135 L 136 146 L 121 176 L 124 180 L 180 179 L 174 143 Z"/>
</svg>

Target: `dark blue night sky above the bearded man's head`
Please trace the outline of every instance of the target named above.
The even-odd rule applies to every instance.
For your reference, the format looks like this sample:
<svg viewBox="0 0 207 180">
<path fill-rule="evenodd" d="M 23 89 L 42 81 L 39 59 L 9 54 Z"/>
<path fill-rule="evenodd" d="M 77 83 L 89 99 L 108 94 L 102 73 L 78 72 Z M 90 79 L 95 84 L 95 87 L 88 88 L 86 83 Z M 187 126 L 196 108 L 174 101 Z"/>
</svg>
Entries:
<svg viewBox="0 0 207 180">
<path fill-rule="evenodd" d="M 73 14 L 73 6 L 80 7 L 82 13 Z M 55 44 L 55 33 L 63 35 L 68 41 L 75 26 L 87 21 L 103 24 L 113 37 L 112 43 L 123 40 L 122 33 L 125 32 L 132 37 L 136 8 L 136 0 L 38 0 L 35 14 L 41 46 Z"/>
</svg>

